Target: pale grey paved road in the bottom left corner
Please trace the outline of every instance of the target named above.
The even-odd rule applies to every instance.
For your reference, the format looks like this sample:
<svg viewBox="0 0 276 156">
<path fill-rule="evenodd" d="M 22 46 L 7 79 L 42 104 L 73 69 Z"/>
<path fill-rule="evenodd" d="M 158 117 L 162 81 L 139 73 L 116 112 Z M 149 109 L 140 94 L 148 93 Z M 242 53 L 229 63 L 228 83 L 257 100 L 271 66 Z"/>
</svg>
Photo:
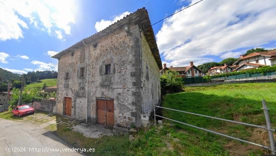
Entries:
<svg viewBox="0 0 276 156">
<path fill-rule="evenodd" d="M 15 147 L 22 147 L 16 148 L 21 151 L 8 151 Z M 50 151 L 56 148 L 66 150 L 73 147 L 39 125 L 0 119 L 0 155 L 83 155 L 74 151 Z"/>
</svg>

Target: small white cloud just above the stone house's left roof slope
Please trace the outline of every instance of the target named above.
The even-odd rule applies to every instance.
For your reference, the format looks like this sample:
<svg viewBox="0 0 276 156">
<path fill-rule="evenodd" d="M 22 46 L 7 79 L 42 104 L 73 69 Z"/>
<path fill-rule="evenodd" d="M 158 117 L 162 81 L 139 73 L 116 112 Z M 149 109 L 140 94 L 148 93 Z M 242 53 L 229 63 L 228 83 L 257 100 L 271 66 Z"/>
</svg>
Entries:
<svg viewBox="0 0 276 156">
<path fill-rule="evenodd" d="M 115 16 L 113 20 L 101 20 L 97 21 L 95 24 L 95 29 L 97 32 L 100 32 L 101 30 L 105 29 L 106 27 L 110 26 L 111 24 L 117 22 L 118 20 L 122 19 L 126 15 L 130 14 L 129 12 L 124 12 L 121 15 Z"/>
</svg>

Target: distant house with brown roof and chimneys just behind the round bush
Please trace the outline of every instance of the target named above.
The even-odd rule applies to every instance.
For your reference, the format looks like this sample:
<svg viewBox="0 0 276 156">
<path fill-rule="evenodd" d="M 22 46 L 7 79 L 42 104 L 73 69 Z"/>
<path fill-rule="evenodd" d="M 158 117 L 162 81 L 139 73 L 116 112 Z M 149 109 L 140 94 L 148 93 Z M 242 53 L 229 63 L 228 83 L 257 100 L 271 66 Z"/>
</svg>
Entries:
<svg viewBox="0 0 276 156">
<path fill-rule="evenodd" d="M 185 67 L 167 67 L 166 64 L 163 64 L 163 69 L 160 71 L 160 74 L 164 74 L 167 70 L 176 71 L 179 77 L 201 77 L 206 75 L 201 69 L 197 68 L 194 65 L 194 62 L 190 62 L 190 66 Z"/>
</svg>

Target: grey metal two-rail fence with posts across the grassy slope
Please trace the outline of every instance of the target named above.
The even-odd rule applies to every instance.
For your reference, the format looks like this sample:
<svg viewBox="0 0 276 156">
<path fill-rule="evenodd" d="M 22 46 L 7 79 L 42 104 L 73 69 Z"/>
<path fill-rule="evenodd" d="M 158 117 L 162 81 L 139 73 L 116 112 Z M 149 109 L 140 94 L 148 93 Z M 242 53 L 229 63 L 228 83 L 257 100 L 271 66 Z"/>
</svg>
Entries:
<svg viewBox="0 0 276 156">
<path fill-rule="evenodd" d="M 192 114 L 192 115 L 197 115 L 197 116 L 203 116 L 203 117 L 207 117 L 207 118 L 212 118 L 212 119 L 217 119 L 217 120 L 222 120 L 222 121 L 227 121 L 227 122 L 242 124 L 242 125 L 246 125 L 246 126 L 251 126 L 251 127 L 266 129 L 267 132 L 268 132 L 270 147 L 262 145 L 262 144 L 250 142 L 250 141 L 247 141 L 247 140 L 243 140 L 243 139 L 240 139 L 240 138 L 237 138 L 237 137 L 229 136 L 229 135 L 226 135 L 226 134 L 222 134 L 222 133 L 219 133 L 219 132 L 215 132 L 215 131 L 212 131 L 212 130 L 209 130 L 209 129 L 205 129 L 205 128 L 202 128 L 202 127 L 194 126 L 194 125 L 191 125 L 191 124 L 188 124 L 188 123 L 184 123 L 184 122 L 181 122 L 181 121 L 177 121 L 177 120 L 174 120 L 174 119 L 170 119 L 170 118 L 167 118 L 167 117 L 164 117 L 164 116 L 161 116 L 161 115 L 157 115 L 156 114 L 156 108 L 162 108 L 162 109 L 168 109 L 168 110 L 173 110 L 173 111 L 179 111 L 179 112 L 183 112 L 183 113 L 187 113 L 187 114 Z M 264 112 L 266 126 L 260 126 L 260 125 L 250 124 L 250 123 L 244 123 L 244 122 L 239 122 L 239 121 L 227 120 L 227 119 L 223 119 L 223 118 L 218 118 L 218 117 L 213 117 L 213 116 L 207 116 L 207 115 L 202 115 L 202 114 L 197 114 L 197 113 L 192 113 L 192 112 L 187 112 L 187 111 L 182 111 L 182 110 L 177 110 L 177 109 L 172 109 L 172 108 L 166 108 L 166 107 L 161 107 L 161 106 L 155 106 L 155 108 L 154 108 L 154 120 L 155 120 L 155 125 L 156 125 L 156 116 L 158 116 L 158 117 L 161 117 L 161 118 L 164 118 L 164 119 L 167 119 L 167 120 L 171 120 L 171 121 L 175 121 L 175 122 L 178 122 L 178 123 L 181 123 L 181 124 L 184 124 L 184 125 L 187 125 L 187 126 L 191 126 L 191 127 L 197 128 L 197 129 L 205 130 L 205 131 L 217 134 L 217 135 L 225 136 L 225 137 L 228 137 L 228 138 L 231 138 L 231 139 L 235 139 L 235 140 L 238 140 L 238 141 L 241 141 L 241 142 L 245 142 L 245 143 L 248 143 L 248 144 L 253 144 L 253 145 L 256 145 L 256 146 L 259 146 L 259 147 L 263 147 L 265 149 L 271 150 L 272 154 L 275 154 L 276 150 L 275 150 L 275 143 L 274 143 L 274 138 L 273 138 L 273 131 L 275 131 L 275 129 L 271 128 L 270 118 L 269 118 L 269 114 L 268 114 L 268 110 L 269 109 L 266 107 L 266 103 L 265 103 L 264 100 L 262 100 L 262 108 L 261 109 L 263 109 L 263 112 Z"/>
</svg>

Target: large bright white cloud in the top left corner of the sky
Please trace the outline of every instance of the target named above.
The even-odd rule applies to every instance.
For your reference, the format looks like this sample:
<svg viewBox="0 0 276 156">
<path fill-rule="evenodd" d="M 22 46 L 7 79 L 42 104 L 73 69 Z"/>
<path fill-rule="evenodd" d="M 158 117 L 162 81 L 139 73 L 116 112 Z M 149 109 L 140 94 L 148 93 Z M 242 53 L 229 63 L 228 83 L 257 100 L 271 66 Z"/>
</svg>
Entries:
<svg viewBox="0 0 276 156">
<path fill-rule="evenodd" d="M 76 10 L 75 0 L 0 0 L 0 40 L 24 38 L 22 28 L 28 29 L 28 22 L 50 35 L 56 30 L 70 34 Z"/>
</svg>

